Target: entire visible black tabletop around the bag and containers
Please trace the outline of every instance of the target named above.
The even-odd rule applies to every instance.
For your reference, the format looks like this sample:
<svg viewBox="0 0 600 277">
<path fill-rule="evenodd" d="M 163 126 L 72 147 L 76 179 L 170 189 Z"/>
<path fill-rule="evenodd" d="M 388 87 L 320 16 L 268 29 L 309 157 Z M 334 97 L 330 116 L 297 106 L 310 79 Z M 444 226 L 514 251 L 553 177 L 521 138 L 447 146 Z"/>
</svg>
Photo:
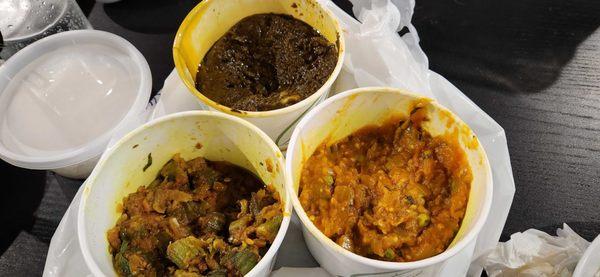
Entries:
<svg viewBox="0 0 600 277">
<path fill-rule="evenodd" d="M 153 91 L 197 0 L 79 1 L 94 28 L 144 54 Z M 335 1 L 346 11 L 346 0 Z M 430 68 L 506 131 L 516 194 L 502 240 L 564 222 L 600 233 L 600 1 L 417 1 L 413 23 Z M 80 181 L 0 161 L 0 276 L 37 276 Z"/>
</svg>

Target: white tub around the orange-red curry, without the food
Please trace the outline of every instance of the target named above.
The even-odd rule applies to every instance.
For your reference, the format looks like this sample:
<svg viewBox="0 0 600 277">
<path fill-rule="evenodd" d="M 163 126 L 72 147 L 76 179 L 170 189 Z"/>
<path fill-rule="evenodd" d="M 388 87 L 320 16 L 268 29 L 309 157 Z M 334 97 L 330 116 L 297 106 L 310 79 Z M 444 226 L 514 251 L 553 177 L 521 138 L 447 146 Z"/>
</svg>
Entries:
<svg viewBox="0 0 600 277">
<path fill-rule="evenodd" d="M 446 251 L 414 262 L 386 262 L 365 258 L 345 250 L 327 238 L 311 222 L 298 200 L 303 164 L 315 149 L 333 143 L 367 125 L 378 125 L 392 116 L 408 117 L 417 103 L 428 121 L 423 128 L 432 136 L 456 132 L 473 173 L 467 210 L 460 230 Z M 434 100 L 392 88 L 359 88 L 333 96 L 318 105 L 298 123 L 286 157 L 287 190 L 302 222 L 304 239 L 321 267 L 335 276 L 432 276 L 448 258 L 477 238 L 492 202 L 492 173 L 487 156 L 471 129 Z"/>
</svg>

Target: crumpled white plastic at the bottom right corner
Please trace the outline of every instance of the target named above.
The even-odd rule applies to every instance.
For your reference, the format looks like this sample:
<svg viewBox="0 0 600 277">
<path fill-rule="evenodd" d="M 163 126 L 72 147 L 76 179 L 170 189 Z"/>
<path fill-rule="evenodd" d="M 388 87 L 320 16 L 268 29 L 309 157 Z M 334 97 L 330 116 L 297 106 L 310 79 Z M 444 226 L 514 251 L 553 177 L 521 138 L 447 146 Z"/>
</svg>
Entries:
<svg viewBox="0 0 600 277">
<path fill-rule="evenodd" d="M 551 236 L 529 229 L 510 236 L 477 263 L 488 276 L 571 276 L 590 243 L 567 224 Z"/>
</svg>

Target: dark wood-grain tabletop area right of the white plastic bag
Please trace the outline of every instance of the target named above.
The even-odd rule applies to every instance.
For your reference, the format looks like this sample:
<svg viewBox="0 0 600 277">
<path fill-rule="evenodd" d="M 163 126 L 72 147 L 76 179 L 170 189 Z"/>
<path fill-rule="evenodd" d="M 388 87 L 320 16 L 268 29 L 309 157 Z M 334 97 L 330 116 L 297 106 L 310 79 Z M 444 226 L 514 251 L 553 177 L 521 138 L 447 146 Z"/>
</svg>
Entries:
<svg viewBox="0 0 600 277">
<path fill-rule="evenodd" d="M 600 1 L 417 1 L 431 68 L 507 135 L 516 194 L 503 239 L 563 222 L 600 233 Z"/>
</svg>

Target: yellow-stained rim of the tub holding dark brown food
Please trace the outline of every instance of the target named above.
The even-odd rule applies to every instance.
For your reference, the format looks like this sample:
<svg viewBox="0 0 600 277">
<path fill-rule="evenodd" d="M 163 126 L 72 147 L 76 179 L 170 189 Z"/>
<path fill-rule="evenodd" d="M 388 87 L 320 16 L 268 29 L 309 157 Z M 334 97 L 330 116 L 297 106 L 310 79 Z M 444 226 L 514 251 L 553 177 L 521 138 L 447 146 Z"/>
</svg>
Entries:
<svg viewBox="0 0 600 277">
<path fill-rule="evenodd" d="M 181 57 L 179 48 L 182 43 L 181 40 L 182 40 L 183 34 L 186 32 L 186 30 L 188 28 L 192 27 L 190 25 L 192 19 L 196 18 L 200 14 L 200 11 L 202 10 L 202 8 L 205 5 L 208 5 L 209 3 L 214 2 L 214 1 L 216 1 L 216 0 L 205 0 L 205 1 L 200 2 L 198 5 L 196 5 L 196 7 L 194 7 L 194 9 L 192 9 L 192 11 L 190 11 L 188 13 L 188 15 L 185 17 L 185 19 L 179 26 L 179 29 L 177 30 L 177 33 L 175 35 L 175 40 L 173 41 L 173 60 L 175 63 L 175 69 L 177 70 L 177 74 L 179 75 L 179 78 L 185 84 L 185 86 L 187 87 L 187 89 L 190 93 L 192 93 L 194 96 L 199 98 L 203 103 L 206 103 L 209 107 L 211 107 L 215 110 L 224 112 L 226 114 L 230 114 L 230 115 L 234 115 L 234 116 L 238 116 L 238 117 L 246 117 L 246 118 L 275 117 L 275 116 L 282 115 L 282 114 L 288 114 L 293 111 L 309 107 L 311 103 L 317 101 L 317 99 L 319 97 L 321 97 L 323 94 L 327 93 L 328 88 L 330 88 L 333 85 L 333 83 L 337 79 L 337 76 L 339 75 L 340 71 L 342 70 L 342 66 L 344 65 L 344 57 L 345 57 L 345 52 L 346 52 L 346 41 L 344 39 L 344 32 L 343 32 L 342 28 L 340 27 L 340 23 L 339 23 L 339 20 L 337 19 L 337 17 L 328 8 L 324 7 L 317 0 L 307 0 L 307 1 L 313 2 L 325 14 L 327 14 L 327 16 L 333 21 L 333 24 L 335 25 L 335 30 L 337 33 L 337 39 L 339 42 L 337 44 L 339 49 L 338 49 L 338 60 L 337 60 L 337 63 L 335 65 L 333 72 L 331 72 L 331 75 L 329 75 L 329 78 L 327 79 L 327 81 L 316 92 L 314 92 L 309 97 L 303 99 L 302 101 L 300 101 L 298 103 L 295 103 L 295 104 L 292 104 L 290 106 L 286 106 L 283 108 L 269 110 L 269 111 L 240 111 L 240 110 L 232 109 L 230 107 L 221 105 L 221 104 L 211 100 L 210 98 L 206 97 L 200 91 L 198 91 L 196 89 L 195 84 L 190 83 L 189 80 L 187 80 L 187 78 L 185 78 L 186 65 L 181 63 L 181 61 L 184 59 L 183 59 L 183 57 Z"/>
</svg>

